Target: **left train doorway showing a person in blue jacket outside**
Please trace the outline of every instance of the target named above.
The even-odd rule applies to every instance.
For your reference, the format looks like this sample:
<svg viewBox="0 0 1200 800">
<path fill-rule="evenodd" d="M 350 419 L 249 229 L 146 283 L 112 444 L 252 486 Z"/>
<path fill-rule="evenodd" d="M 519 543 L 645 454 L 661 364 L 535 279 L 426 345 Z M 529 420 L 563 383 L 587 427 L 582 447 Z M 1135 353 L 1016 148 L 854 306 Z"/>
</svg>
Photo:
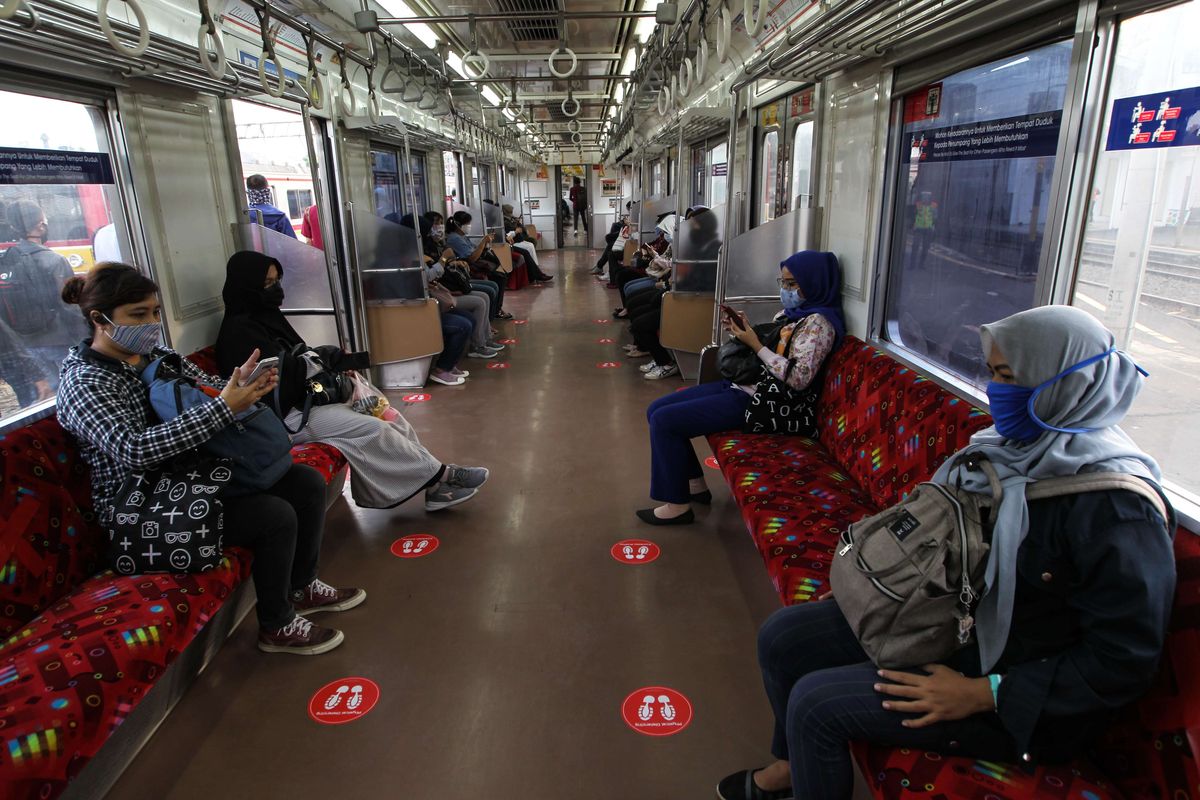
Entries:
<svg viewBox="0 0 1200 800">
<path fill-rule="evenodd" d="M 342 294 L 337 259 L 325 252 L 329 207 L 318 201 L 324 124 L 310 119 L 306 131 L 304 115 L 293 110 L 241 100 L 230 108 L 247 210 L 242 246 L 283 265 L 283 313 L 306 342 L 349 344 L 348 325 L 338 324 L 343 297 L 335 302 Z"/>
</svg>

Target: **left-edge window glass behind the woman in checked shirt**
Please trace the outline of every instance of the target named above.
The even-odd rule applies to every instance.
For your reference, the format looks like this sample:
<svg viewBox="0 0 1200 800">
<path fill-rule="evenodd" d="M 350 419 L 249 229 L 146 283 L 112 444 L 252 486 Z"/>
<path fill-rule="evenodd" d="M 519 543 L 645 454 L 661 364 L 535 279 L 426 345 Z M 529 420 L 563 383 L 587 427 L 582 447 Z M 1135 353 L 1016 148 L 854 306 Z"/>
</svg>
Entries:
<svg viewBox="0 0 1200 800">
<path fill-rule="evenodd" d="M 0 91 L 0 417 L 48 404 L 88 335 L 62 283 L 132 248 L 102 108 Z"/>
</svg>

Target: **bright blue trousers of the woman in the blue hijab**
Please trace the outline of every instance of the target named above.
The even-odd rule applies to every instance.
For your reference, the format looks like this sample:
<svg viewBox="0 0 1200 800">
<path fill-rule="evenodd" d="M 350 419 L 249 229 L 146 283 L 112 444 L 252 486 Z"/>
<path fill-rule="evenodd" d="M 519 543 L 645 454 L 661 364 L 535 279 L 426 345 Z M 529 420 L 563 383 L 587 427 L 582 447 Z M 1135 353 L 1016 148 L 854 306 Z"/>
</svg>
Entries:
<svg viewBox="0 0 1200 800">
<path fill-rule="evenodd" d="M 688 503 L 688 481 L 703 471 L 692 437 L 740 429 L 750 396 L 727 380 L 691 386 L 660 397 L 646 409 L 650 423 L 650 498 Z"/>
</svg>

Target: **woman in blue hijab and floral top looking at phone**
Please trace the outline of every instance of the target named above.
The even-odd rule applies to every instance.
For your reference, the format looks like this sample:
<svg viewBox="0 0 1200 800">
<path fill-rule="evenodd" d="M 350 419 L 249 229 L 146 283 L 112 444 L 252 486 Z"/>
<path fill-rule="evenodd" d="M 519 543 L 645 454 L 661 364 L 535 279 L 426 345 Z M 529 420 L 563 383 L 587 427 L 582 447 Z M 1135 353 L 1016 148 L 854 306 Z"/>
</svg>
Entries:
<svg viewBox="0 0 1200 800">
<path fill-rule="evenodd" d="M 739 314 L 739 325 L 725 321 L 730 333 L 754 353 L 762 366 L 796 390 L 804 390 L 821 372 L 826 357 L 846 332 L 841 314 L 841 271 L 833 253 L 802 251 L 780 263 L 779 345 L 770 350 Z M 785 321 L 786 320 L 786 321 Z M 745 423 L 754 385 L 718 380 L 691 386 L 650 403 L 650 498 L 662 503 L 643 509 L 638 518 L 652 525 L 685 525 L 695 521 L 692 503 L 708 504 L 712 492 L 692 450 L 702 437 Z"/>
</svg>

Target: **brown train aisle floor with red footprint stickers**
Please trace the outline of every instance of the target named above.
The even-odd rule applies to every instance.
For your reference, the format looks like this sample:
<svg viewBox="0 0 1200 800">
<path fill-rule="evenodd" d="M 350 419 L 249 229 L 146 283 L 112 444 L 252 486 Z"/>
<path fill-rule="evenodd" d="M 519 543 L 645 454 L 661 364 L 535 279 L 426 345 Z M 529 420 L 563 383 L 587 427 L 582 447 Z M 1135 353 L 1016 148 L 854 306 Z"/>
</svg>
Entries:
<svg viewBox="0 0 1200 800">
<path fill-rule="evenodd" d="M 588 275 L 595 257 L 547 253 L 553 288 L 510 295 L 529 321 L 502 325 L 520 339 L 502 354 L 509 369 L 467 360 L 466 386 L 403 408 L 442 458 L 492 470 L 480 495 L 436 515 L 340 500 L 322 577 L 370 597 L 318 620 L 346 643 L 265 655 L 251 614 L 110 798 L 708 799 L 721 776 L 764 763 L 755 631 L 778 601 L 718 473 L 697 524 L 634 517 L 649 503 L 644 408 L 682 384 L 642 380 L 642 361 L 620 355 L 623 326 L 593 321 L 618 301 Z M 598 369 L 606 360 L 622 366 Z M 413 533 L 440 548 L 391 557 Z M 608 548 L 626 537 L 662 557 L 617 564 Z M 313 692 L 350 675 L 380 686 L 374 710 L 311 721 Z M 622 700 L 654 685 L 690 698 L 688 729 L 625 726 Z"/>
</svg>

